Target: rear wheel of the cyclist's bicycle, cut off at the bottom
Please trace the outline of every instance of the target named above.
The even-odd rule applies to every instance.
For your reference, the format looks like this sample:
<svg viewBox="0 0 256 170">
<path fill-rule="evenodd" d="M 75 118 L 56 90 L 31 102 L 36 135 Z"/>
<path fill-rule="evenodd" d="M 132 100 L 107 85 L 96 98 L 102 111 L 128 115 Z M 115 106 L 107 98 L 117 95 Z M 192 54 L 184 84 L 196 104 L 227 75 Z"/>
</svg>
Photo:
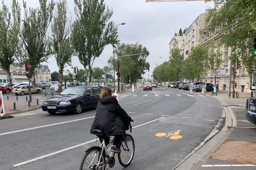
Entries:
<svg viewBox="0 0 256 170">
<path fill-rule="evenodd" d="M 102 149 L 99 147 L 93 147 L 88 150 L 84 154 L 79 170 L 95 170 L 99 162 L 101 150 Z M 102 154 L 101 162 L 99 163 L 99 168 L 97 170 L 105 170 L 105 160 L 105 154 Z"/>
</svg>

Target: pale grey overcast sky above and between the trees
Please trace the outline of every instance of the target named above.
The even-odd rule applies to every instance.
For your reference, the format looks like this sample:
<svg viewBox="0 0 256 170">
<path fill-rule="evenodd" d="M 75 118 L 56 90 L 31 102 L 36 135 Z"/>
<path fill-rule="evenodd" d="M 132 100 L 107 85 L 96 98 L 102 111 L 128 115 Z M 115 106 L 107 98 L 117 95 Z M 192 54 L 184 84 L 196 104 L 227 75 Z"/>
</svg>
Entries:
<svg viewBox="0 0 256 170">
<path fill-rule="evenodd" d="M 38 0 L 25 0 L 28 7 L 37 7 Z M 55 0 L 57 1 L 57 0 Z M 4 0 L 11 3 L 11 0 Z M 22 7 L 22 0 L 18 0 Z M 146 3 L 145 0 L 105 0 L 105 4 L 113 9 L 111 20 L 115 24 L 125 23 L 118 26 L 119 39 L 121 43 L 140 43 L 149 51 L 147 61 L 150 71 L 143 77 L 151 75 L 156 64 L 161 64 L 169 58 L 169 42 L 175 31 L 178 32 L 189 27 L 199 14 L 205 13 L 207 8 L 213 8 L 214 3 L 203 1 L 188 2 L 154 2 Z M 74 14 L 73 0 L 67 0 L 67 8 Z M 23 17 L 23 16 L 22 16 Z M 49 28 L 50 29 L 50 28 Z M 108 65 L 109 57 L 113 56 L 113 47 L 105 47 L 102 55 L 93 63 L 93 67 L 103 68 Z M 164 57 L 164 58 L 160 58 Z M 51 72 L 58 71 L 56 60 L 51 57 L 48 63 Z M 78 57 L 72 58 L 72 65 L 83 68 Z M 71 68 L 67 68 L 72 70 Z"/>
</svg>

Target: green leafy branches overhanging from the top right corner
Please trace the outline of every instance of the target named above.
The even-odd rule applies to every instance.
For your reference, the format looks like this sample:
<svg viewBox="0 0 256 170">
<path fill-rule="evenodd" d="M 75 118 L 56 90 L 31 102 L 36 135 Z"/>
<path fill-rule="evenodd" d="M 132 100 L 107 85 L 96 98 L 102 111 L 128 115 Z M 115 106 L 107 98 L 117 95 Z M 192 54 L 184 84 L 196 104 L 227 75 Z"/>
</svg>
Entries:
<svg viewBox="0 0 256 170">
<path fill-rule="evenodd" d="M 253 38 L 256 37 L 255 0 L 222 0 L 219 10 L 209 9 L 203 30 L 220 34 L 220 44 L 233 48 L 233 63 L 240 60 L 245 70 L 252 74 L 256 69 L 252 54 Z"/>
</svg>

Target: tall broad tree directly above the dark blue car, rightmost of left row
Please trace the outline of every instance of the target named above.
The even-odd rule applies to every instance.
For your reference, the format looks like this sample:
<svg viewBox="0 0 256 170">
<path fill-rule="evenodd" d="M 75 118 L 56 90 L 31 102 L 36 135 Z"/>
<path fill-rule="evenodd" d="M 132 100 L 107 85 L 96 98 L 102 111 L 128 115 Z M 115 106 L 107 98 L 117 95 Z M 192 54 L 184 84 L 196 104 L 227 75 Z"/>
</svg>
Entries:
<svg viewBox="0 0 256 170">
<path fill-rule="evenodd" d="M 81 64 L 88 66 L 88 80 L 96 57 L 108 44 L 118 44 L 117 28 L 109 21 L 113 11 L 104 0 L 74 0 L 76 21 L 73 23 L 72 43 Z"/>
</svg>

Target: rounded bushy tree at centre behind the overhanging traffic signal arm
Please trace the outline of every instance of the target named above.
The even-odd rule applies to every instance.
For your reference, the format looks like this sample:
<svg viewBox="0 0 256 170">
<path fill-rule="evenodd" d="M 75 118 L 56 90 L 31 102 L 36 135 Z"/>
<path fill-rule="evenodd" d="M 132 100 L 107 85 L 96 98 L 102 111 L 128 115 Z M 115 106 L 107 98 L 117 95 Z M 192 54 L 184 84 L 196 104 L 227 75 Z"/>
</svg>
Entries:
<svg viewBox="0 0 256 170">
<path fill-rule="evenodd" d="M 144 51 L 144 54 L 142 54 Z M 134 55 L 131 57 L 122 57 L 119 58 L 119 71 L 122 78 L 125 82 L 130 82 L 130 86 L 133 82 L 136 82 L 137 79 L 141 79 L 142 75 L 145 74 L 145 71 L 149 71 L 149 63 L 146 62 L 146 59 L 149 55 L 149 52 L 146 47 L 143 45 L 136 44 L 121 44 L 115 50 L 117 56 L 126 56 Z"/>
</svg>

